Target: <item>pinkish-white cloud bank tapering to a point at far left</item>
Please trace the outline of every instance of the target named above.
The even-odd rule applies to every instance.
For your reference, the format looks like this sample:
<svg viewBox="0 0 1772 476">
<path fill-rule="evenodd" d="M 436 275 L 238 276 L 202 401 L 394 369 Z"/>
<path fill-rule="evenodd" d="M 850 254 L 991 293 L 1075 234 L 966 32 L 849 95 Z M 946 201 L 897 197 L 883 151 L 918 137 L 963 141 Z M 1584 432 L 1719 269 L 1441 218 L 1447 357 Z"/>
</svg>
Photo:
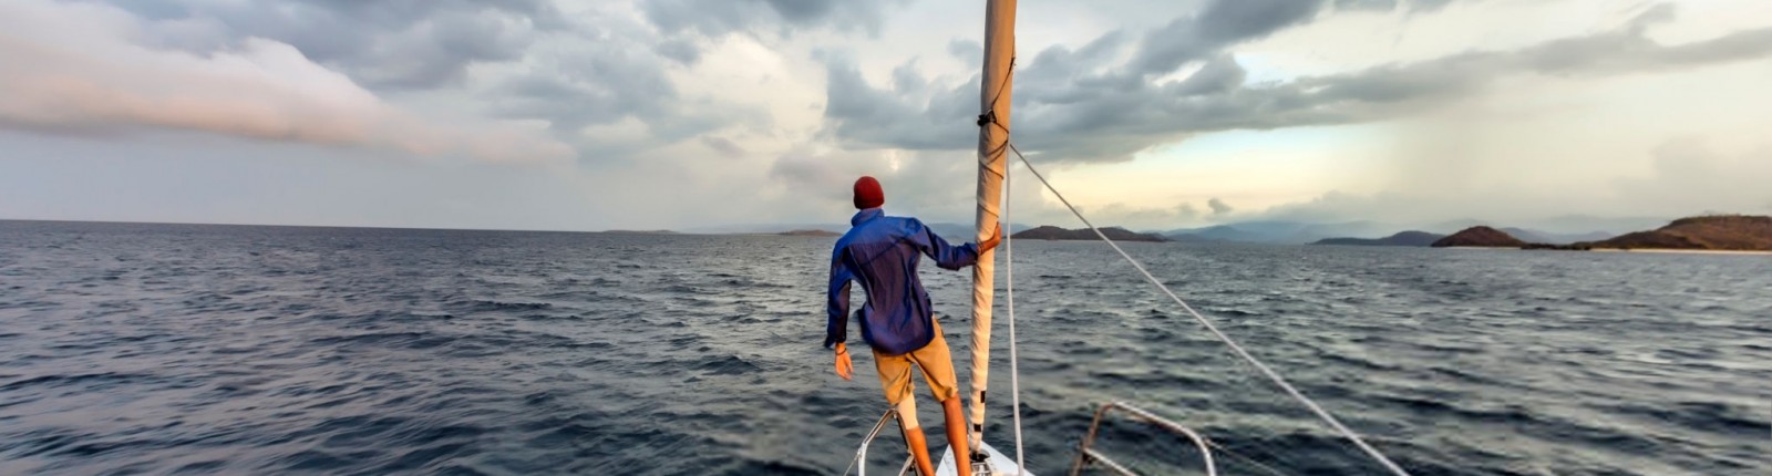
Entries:
<svg viewBox="0 0 1772 476">
<path fill-rule="evenodd" d="M 128 12 L 37 0 L 0 5 L 0 120 L 53 133 L 206 131 L 418 156 L 560 161 L 574 152 L 532 129 L 439 122 L 390 106 L 298 48 L 248 37 L 191 53 Z"/>
</svg>

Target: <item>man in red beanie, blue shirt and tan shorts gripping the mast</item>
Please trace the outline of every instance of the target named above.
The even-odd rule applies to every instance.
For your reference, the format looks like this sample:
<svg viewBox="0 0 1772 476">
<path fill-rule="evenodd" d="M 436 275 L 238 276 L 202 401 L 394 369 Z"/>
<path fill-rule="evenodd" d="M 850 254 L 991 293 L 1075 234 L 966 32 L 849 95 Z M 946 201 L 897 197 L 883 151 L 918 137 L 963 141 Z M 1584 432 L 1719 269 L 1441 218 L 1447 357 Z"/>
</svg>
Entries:
<svg viewBox="0 0 1772 476">
<path fill-rule="evenodd" d="M 959 457 L 960 476 L 971 474 L 966 449 L 966 414 L 960 412 L 960 391 L 953 377 L 953 357 L 948 340 L 941 336 L 929 304 L 929 294 L 916 278 L 921 255 L 943 269 L 973 265 L 978 255 L 996 248 L 1001 228 L 991 232 L 982 244 L 950 246 L 916 218 L 886 216 L 881 205 L 886 193 L 874 177 L 861 177 L 854 186 L 856 212 L 849 219 L 849 234 L 836 241 L 831 251 L 829 324 L 824 347 L 836 350 L 836 375 L 849 380 L 854 365 L 849 361 L 849 283 L 861 281 L 868 303 L 856 311 L 861 322 L 861 340 L 874 350 L 874 368 L 879 370 L 886 402 L 898 409 L 905 446 L 916 460 L 920 474 L 936 474 L 923 442 L 923 428 L 916 423 L 916 400 L 911 396 L 911 366 L 921 368 L 930 393 L 941 402 L 946 418 L 948 444 Z"/>
</svg>

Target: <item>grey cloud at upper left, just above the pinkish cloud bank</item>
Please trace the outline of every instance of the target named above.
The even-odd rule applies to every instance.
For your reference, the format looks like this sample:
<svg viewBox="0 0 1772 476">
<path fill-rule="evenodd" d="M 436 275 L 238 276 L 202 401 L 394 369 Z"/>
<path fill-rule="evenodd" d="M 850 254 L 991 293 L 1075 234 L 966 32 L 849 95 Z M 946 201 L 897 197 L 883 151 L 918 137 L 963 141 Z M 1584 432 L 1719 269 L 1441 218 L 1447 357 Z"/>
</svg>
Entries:
<svg viewBox="0 0 1772 476">
<path fill-rule="evenodd" d="M 548 0 L 280 0 L 113 2 L 151 19 L 220 25 L 220 37 L 186 48 L 220 48 L 245 37 L 287 42 L 374 88 L 455 83 L 477 62 L 523 57 L 537 32 L 567 27 Z"/>
</svg>

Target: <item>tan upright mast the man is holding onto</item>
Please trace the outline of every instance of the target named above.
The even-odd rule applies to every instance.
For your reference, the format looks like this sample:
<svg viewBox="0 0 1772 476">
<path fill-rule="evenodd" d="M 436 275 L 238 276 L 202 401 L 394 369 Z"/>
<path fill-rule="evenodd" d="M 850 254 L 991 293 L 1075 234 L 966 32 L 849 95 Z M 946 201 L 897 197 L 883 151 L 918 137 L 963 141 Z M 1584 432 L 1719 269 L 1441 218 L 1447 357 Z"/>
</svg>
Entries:
<svg viewBox="0 0 1772 476">
<path fill-rule="evenodd" d="M 1003 170 L 1008 163 L 1008 106 L 1015 62 L 1015 0 L 989 0 L 985 7 L 985 69 L 978 103 L 978 219 L 976 239 L 991 239 L 1003 200 Z M 994 124 L 992 124 L 994 122 Z M 978 451 L 985 425 L 985 384 L 991 380 L 991 303 L 996 290 L 996 251 L 978 255 L 973 265 L 973 386 L 971 448 Z M 959 457 L 959 455 L 955 455 Z"/>
</svg>

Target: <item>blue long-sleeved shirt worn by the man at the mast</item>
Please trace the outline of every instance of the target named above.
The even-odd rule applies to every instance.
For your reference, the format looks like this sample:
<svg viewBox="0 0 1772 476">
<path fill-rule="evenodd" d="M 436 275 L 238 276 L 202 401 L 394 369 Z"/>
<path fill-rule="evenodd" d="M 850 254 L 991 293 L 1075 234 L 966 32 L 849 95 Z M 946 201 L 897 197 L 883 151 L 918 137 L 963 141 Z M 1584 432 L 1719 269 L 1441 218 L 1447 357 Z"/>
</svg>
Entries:
<svg viewBox="0 0 1772 476">
<path fill-rule="evenodd" d="M 960 269 L 978 260 L 976 244 L 950 246 L 916 218 L 886 216 L 865 209 L 849 219 L 849 234 L 831 251 L 829 324 L 824 347 L 847 342 L 849 281 L 861 281 L 868 303 L 861 306 L 861 340 L 888 356 L 923 349 L 936 338 L 929 292 L 916 278 L 921 255 L 943 269 Z"/>
</svg>

